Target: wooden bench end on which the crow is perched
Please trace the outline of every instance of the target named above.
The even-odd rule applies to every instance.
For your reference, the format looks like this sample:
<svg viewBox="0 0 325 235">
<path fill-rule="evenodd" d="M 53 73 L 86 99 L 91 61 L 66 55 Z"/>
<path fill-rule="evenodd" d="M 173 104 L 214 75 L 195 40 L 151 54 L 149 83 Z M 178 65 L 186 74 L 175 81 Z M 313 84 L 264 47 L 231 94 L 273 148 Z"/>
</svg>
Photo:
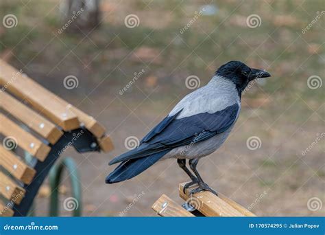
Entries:
<svg viewBox="0 0 325 235">
<path fill-rule="evenodd" d="M 202 191 L 189 195 L 194 186 L 183 192 L 185 183 L 180 183 L 180 197 L 185 200 L 183 205 L 163 194 L 152 205 L 152 209 L 160 216 L 256 216 L 242 205 L 232 201 L 223 194 L 218 196 Z"/>
</svg>

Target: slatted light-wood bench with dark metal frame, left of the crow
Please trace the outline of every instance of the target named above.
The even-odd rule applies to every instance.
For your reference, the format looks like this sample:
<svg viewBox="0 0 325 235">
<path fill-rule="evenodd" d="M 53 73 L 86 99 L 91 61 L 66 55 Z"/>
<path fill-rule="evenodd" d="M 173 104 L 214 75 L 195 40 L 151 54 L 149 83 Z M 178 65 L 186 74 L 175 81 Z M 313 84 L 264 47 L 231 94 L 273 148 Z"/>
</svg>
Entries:
<svg viewBox="0 0 325 235">
<path fill-rule="evenodd" d="M 2 139 L 2 140 L 1 140 Z M 0 216 L 25 216 L 67 146 L 112 150 L 93 117 L 0 60 Z M 21 153 L 32 156 L 25 162 Z"/>
</svg>

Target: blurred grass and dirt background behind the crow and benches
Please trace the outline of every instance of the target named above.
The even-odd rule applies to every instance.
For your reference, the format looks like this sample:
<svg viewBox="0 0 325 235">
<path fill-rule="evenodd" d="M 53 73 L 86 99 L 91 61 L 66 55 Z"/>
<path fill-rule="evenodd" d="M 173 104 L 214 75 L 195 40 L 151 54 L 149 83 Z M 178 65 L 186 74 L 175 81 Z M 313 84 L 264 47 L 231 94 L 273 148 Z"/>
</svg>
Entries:
<svg viewBox="0 0 325 235">
<path fill-rule="evenodd" d="M 198 169 L 257 215 L 324 216 L 324 10 L 322 0 L 1 0 L 0 58 L 112 137 L 109 154 L 65 154 L 80 171 L 84 216 L 155 216 L 163 193 L 182 203 L 178 184 L 189 179 L 176 160 L 113 185 L 108 161 L 228 60 L 267 69 L 272 78 L 245 90 L 234 131 Z M 69 85 L 67 76 L 77 79 Z M 50 193 L 45 183 L 36 216 L 47 215 Z M 65 175 L 64 216 L 70 193 Z"/>
</svg>

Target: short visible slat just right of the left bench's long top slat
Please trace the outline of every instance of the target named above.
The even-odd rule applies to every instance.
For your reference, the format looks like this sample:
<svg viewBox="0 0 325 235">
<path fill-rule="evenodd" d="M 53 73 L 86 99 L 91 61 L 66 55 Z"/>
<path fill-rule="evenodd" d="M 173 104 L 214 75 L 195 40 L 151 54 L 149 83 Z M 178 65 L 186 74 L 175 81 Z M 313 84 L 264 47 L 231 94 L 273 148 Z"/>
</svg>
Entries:
<svg viewBox="0 0 325 235">
<path fill-rule="evenodd" d="M 99 124 L 99 122 L 97 122 L 94 119 L 94 117 L 87 115 L 86 113 L 84 113 L 83 111 L 81 111 L 80 109 L 77 109 L 76 107 L 74 107 L 72 105 L 69 107 L 69 109 L 73 113 L 75 113 L 75 115 L 77 115 L 81 124 L 84 124 L 84 126 L 86 126 L 88 131 L 93 133 L 93 135 L 95 135 L 95 137 L 97 137 L 97 138 L 103 137 L 103 135 L 105 134 L 105 128 L 104 128 L 104 126 Z"/>
</svg>

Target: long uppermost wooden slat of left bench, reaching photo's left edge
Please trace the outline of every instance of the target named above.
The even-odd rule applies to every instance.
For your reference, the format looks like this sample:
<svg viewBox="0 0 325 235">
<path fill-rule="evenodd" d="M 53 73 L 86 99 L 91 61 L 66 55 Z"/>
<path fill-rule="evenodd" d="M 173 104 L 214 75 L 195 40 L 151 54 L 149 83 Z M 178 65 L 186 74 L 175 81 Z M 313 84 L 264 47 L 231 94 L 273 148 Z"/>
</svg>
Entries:
<svg viewBox="0 0 325 235">
<path fill-rule="evenodd" d="M 61 126 L 64 131 L 79 128 L 77 115 L 69 111 L 69 103 L 54 95 L 37 82 L 0 60 L 0 85 L 15 96 L 29 102 L 49 118 Z"/>
</svg>

